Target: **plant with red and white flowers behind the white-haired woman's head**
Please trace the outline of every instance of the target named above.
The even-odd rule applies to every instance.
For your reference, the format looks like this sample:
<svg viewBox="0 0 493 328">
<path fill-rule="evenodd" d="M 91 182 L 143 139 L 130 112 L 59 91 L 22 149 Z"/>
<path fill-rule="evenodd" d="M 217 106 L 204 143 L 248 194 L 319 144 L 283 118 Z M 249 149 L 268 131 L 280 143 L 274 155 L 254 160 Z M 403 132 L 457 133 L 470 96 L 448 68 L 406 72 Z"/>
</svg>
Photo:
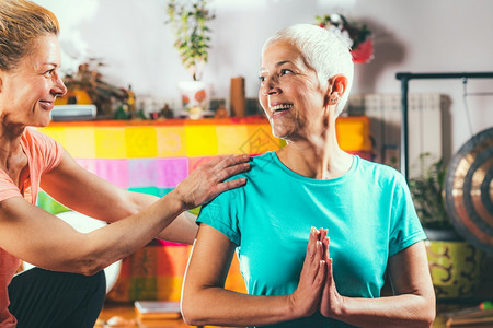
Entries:
<svg viewBox="0 0 493 328">
<path fill-rule="evenodd" d="M 349 22 L 344 15 L 333 13 L 316 16 L 320 27 L 333 31 L 342 36 L 352 48 L 351 55 L 354 62 L 365 63 L 374 58 L 374 42 L 371 32 L 366 24 Z"/>
</svg>

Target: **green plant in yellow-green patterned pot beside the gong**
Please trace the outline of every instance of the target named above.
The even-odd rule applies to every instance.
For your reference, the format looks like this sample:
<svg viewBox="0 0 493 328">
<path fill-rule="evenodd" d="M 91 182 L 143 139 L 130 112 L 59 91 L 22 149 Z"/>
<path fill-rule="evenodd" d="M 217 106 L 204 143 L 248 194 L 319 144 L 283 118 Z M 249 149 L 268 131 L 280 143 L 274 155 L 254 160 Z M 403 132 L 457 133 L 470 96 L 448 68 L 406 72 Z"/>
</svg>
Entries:
<svg viewBox="0 0 493 328">
<path fill-rule="evenodd" d="M 431 162 L 431 154 L 421 154 L 420 161 Z M 470 297 L 481 283 L 484 253 L 467 243 L 447 215 L 446 173 L 443 159 L 432 161 L 422 176 L 409 180 L 409 187 L 427 236 L 426 253 L 436 297 Z"/>
</svg>

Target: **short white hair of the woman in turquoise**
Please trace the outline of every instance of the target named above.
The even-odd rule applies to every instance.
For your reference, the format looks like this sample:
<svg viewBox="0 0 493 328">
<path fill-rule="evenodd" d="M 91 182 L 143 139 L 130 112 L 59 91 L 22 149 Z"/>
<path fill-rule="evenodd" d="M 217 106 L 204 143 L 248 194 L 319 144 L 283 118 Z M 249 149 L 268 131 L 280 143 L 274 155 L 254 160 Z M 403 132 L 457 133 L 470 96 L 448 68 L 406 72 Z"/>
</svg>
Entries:
<svg viewBox="0 0 493 328">
<path fill-rule="evenodd" d="M 353 57 L 341 36 L 317 25 L 297 24 L 285 27 L 271 36 L 264 43 L 262 54 L 277 42 L 288 42 L 294 45 L 301 52 L 308 66 L 316 71 L 323 87 L 326 87 L 329 79 L 334 75 L 346 77 L 346 90 L 335 113 L 339 116 L 346 105 L 354 77 Z"/>
</svg>

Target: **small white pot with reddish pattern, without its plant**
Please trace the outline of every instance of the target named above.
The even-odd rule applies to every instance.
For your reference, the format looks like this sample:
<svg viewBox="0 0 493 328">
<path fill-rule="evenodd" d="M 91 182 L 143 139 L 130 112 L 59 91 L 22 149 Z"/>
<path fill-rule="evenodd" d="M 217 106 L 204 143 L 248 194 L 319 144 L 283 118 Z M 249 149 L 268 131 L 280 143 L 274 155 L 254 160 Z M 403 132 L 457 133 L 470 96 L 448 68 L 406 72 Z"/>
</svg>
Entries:
<svg viewBox="0 0 493 328">
<path fill-rule="evenodd" d="M 209 84 L 204 81 L 182 81 L 177 83 L 182 98 L 182 109 L 191 119 L 198 119 L 208 113 L 210 102 Z"/>
</svg>

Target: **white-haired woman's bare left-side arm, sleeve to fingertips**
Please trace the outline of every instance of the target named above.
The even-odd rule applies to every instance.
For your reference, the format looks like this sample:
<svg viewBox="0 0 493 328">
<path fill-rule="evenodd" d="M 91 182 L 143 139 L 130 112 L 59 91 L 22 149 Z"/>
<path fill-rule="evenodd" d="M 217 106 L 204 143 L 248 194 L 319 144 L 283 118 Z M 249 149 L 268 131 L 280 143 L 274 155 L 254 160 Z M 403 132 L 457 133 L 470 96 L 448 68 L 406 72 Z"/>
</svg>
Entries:
<svg viewBox="0 0 493 328">
<path fill-rule="evenodd" d="M 290 295 L 255 296 L 225 290 L 236 245 L 214 227 L 200 224 L 182 294 L 188 325 L 264 326 L 318 309 L 324 279 L 320 232 L 313 230 L 298 289 Z"/>
</svg>

